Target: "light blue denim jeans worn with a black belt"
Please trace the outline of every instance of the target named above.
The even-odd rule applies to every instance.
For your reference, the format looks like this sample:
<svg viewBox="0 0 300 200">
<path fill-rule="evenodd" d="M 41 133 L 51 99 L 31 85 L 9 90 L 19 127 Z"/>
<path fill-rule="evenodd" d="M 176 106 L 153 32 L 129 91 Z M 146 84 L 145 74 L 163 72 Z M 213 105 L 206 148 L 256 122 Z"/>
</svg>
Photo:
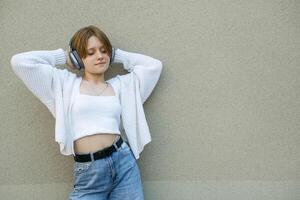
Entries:
<svg viewBox="0 0 300 200">
<path fill-rule="evenodd" d="M 143 200 L 136 159 L 126 142 L 110 156 L 89 162 L 74 161 L 74 189 L 70 200 Z"/>
</svg>

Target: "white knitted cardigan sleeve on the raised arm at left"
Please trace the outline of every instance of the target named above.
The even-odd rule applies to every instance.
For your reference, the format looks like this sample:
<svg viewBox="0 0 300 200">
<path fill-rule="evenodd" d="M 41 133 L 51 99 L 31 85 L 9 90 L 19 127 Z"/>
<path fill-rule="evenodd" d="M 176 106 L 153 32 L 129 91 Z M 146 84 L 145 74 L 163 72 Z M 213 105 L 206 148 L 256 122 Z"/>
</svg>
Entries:
<svg viewBox="0 0 300 200">
<path fill-rule="evenodd" d="M 55 84 L 60 84 L 63 77 L 71 73 L 67 69 L 55 67 L 65 63 L 63 49 L 18 53 L 10 60 L 14 73 L 47 106 L 54 102 Z"/>
</svg>

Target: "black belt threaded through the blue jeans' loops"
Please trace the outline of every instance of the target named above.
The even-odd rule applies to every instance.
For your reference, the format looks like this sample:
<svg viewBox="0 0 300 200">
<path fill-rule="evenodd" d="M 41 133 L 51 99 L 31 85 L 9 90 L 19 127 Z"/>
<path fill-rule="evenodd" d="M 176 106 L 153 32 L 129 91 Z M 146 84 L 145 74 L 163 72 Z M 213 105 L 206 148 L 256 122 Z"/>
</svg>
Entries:
<svg viewBox="0 0 300 200">
<path fill-rule="evenodd" d="M 89 162 L 92 160 L 91 155 L 93 155 L 94 160 L 98 160 L 107 156 L 110 156 L 113 152 L 117 151 L 123 143 L 123 139 L 120 136 L 117 142 L 114 142 L 111 146 L 106 147 L 100 151 L 90 153 L 90 154 L 75 154 L 74 160 L 76 162 Z"/>
</svg>

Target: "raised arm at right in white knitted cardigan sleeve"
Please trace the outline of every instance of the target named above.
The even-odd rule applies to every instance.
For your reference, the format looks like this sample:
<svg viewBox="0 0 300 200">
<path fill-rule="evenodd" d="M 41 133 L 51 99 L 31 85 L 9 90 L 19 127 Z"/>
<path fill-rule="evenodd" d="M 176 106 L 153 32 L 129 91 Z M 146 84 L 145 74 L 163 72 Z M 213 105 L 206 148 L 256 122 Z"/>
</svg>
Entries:
<svg viewBox="0 0 300 200">
<path fill-rule="evenodd" d="M 144 103 L 159 80 L 163 67 L 162 62 L 150 56 L 121 49 L 115 50 L 114 62 L 122 63 L 124 69 L 137 75 Z"/>
</svg>

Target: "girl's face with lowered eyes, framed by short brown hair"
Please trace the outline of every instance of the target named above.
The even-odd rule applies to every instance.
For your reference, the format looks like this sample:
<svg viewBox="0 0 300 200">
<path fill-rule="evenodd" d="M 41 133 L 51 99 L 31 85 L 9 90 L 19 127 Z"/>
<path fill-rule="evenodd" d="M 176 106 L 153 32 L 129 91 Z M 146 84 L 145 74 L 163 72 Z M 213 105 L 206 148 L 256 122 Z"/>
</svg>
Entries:
<svg viewBox="0 0 300 200">
<path fill-rule="evenodd" d="M 87 57 L 82 58 L 85 72 L 103 74 L 109 67 L 110 57 L 102 42 L 96 37 L 88 39 Z"/>
</svg>

